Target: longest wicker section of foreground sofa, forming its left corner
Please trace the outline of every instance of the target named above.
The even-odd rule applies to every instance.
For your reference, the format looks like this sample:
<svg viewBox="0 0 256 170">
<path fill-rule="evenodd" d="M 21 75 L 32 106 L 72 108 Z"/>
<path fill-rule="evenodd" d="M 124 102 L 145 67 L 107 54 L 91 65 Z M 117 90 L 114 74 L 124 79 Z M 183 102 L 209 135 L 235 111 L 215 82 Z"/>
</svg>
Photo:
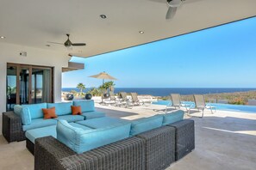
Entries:
<svg viewBox="0 0 256 170">
<path fill-rule="evenodd" d="M 129 137 L 79 155 L 53 137 L 41 137 L 35 140 L 34 169 L 143 170 L 144 155 L 144 141 L 139 137 Z"/>
</svg>

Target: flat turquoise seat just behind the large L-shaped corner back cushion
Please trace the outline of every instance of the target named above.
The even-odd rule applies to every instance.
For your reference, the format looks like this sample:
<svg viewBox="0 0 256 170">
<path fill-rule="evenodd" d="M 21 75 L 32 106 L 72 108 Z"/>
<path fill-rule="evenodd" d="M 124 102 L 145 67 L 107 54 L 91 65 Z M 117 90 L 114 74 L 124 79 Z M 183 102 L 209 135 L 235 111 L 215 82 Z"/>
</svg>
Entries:
<svg viewBox="0 0 256 170">
<path fill-rule="evenodd" d="M 89 120 L 76 122 L 77 124 L 83 124 L 93 129 L 104 128 L 110 125 L 127 124 L 129 121 L 122 118 L 93 118 Z"/>
</svg>

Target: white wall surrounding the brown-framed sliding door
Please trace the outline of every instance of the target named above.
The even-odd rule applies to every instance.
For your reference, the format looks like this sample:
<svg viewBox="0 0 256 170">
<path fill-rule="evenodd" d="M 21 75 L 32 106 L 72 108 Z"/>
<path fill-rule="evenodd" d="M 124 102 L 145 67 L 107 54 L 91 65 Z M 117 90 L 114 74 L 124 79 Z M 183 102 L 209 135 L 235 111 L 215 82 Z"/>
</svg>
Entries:
<svg viewBox="0 0 256 170">
<path fill-rule="evenodd" d="M 21 57 L 20 52 L 27 52 Z M 6 66 L 7 63 L 34 64 L 54 67 L 54 100 L 61 101 L 61 68 L 67 66 L 68 56 L 64 52 L 44 50 L 28 46 L 0 43 L 0 117 L 6 110 Z M 1 120 L 2 118 L 0 118 Z M 2 129 L 2 121 L 0 123 Z M 2 130 L 0 134 L 2 133 Z"/>
</svg>

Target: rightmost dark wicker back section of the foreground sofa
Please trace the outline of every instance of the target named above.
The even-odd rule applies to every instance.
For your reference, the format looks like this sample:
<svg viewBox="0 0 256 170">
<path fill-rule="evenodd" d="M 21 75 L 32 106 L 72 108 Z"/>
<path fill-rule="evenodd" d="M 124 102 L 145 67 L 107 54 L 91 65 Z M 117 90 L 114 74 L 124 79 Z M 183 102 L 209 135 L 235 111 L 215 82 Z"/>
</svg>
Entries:
<svg viewBox="0 0 256 170">
<path fill-rule="evenodd" d="M 178 161 L 195 149 L 194 120 L 184 119 L 168 126 L 175 128 L 175 161 Z"/>
</svg>

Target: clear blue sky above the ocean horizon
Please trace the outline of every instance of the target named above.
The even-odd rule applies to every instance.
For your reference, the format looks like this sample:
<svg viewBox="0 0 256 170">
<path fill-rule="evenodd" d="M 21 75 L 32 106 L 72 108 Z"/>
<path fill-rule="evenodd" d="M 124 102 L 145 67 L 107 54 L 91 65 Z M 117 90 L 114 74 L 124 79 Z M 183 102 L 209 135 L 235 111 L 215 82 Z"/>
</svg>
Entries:
<svg viewBox="0 0 256 170">
<path fill-rule="evenodd" d="M 256 17 L 93 58 L 72 58 L 84 70 L 63 74 L 62 87 L 106 71 L 116 88 L 256 88 Z M 147 36 L 147 33 L 143 34 Z"/>
</svg>

